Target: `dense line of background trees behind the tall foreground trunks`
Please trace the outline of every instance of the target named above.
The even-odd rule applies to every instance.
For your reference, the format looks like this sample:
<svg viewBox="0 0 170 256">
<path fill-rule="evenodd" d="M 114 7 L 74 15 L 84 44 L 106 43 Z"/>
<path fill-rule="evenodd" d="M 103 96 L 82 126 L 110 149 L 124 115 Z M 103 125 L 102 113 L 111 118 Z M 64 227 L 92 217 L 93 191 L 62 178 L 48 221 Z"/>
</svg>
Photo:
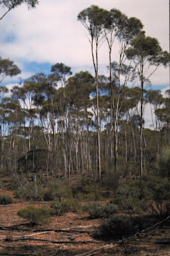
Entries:
<svg viewBox="0 0 170 256">
<path fill-rule="evenodd" d="M 115 63 L 114 63 L 115 65 Z M 96 147 L 95 78 L 88 71 L 72 75 L 70 67 L 56 63 L 51 73 L 39 73 L 15 85 L 0 87 L 1 171 L 7 175 L 37 173 L 70 177 L 88 173 L 98 180 Z M 114 97 L 118 86 L 114 85 Z M 112 90 L 110 78 L 98 76 L 98 100 L 102 179 L 115 173 L 111 152 Z M 143 105 L 154 109 L 153 130 L 143 130 L 144 176 L 154 172 L 157 155 L 170 143 L 169 99 L 160 90 L 143 92 Z M 124 87 L 118 116 L 118 171 L 122 176 L 139 175 L 139 130 L 141 88 Z M 144 124 L 144 120 L 143 120 Z"/>
</svg>

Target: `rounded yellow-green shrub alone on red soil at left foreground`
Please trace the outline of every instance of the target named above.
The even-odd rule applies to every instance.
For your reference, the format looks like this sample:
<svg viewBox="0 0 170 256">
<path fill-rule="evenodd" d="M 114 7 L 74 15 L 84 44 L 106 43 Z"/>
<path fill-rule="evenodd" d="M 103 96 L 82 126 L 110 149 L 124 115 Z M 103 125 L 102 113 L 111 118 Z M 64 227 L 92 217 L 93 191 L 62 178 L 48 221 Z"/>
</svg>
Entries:
<svg viewBox="0 0 170 256">
<path fill-rule="evenodd" d="M 34 227 L 37 224 L 48 223 L 50 210 L 46 207 L 28 206 L 27 208 L 20 209 L 17 215 L 30 221 L 31 225 Z"/>
</svg>

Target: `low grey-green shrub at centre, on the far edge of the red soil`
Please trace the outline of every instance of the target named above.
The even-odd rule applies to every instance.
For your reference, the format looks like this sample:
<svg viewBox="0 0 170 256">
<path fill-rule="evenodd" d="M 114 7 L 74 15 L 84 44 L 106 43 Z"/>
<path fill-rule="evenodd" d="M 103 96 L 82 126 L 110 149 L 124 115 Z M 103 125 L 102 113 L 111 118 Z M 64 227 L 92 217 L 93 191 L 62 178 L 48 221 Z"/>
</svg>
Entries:
<svg viewBox="0 0 170 256">
<path fill-rule="evenodd" d="M 97 202 L 90 202 L 87 205 L 84 205 L 82 210 L 94 218 L 109 217 L 110 215 L 118 213 L 119 211 L 118 206 L 114 205 L 113 203 L 102 205 L 101 203 Z"/>
</svg>

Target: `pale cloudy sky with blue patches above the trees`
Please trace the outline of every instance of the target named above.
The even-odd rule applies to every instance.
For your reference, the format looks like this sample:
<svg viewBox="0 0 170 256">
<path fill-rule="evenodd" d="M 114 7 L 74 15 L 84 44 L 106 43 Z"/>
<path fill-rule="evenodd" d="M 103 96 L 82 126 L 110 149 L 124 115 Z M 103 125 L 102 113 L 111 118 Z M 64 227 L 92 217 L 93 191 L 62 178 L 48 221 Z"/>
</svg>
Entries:
<svg viewBox="0 0 170 256">
<path fill-rule="evenodd" d="M 162 49 L 169 51 L 168 0 L 40 0 L 37 9 L 28 11 L 22 5 L 0 21 L 0 56 L 15 61 L 22 78 L 39 72 L 48 74 L 51 65 L 60 62 L 70 66 L 73 73 L 88 70 L 93 75 L 90 43 L 77 21 L 78 13 L 90 5 L 120 9 L 128 17 L 137 17 L 146 35 L 156 37 Z M 4 13 L 0 8 L 1 16 Z M 116 56 L 116 52 L 113 54 Z M 106 43 L 100 48 L 99 65 L 100 73 L 107 75 Z M 6 79 L 3 85 L 15 83 L 16 78 Z M 169 70 L 159 69 L 151 83 L 153 89 L 168 87 Z"/>
</svg>

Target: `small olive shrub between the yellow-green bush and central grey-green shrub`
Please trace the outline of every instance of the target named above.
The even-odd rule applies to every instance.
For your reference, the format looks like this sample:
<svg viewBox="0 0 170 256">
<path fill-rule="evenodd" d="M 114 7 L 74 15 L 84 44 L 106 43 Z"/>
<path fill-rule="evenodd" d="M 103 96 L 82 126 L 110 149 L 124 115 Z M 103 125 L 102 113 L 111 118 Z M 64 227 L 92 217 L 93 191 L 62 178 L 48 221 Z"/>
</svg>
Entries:
<svg viewBox="0 0 170 256">
<path fill-rule="evenodd" d="M 65 199 L 62 202 L 52 202 L 50 204 L 51 213 L 53 215 L 63 215 L 64 213 L 68 213 L 68 211 L 78 211 L 80 209 L 80 205 L 76 199 Z"/>
</svg>

